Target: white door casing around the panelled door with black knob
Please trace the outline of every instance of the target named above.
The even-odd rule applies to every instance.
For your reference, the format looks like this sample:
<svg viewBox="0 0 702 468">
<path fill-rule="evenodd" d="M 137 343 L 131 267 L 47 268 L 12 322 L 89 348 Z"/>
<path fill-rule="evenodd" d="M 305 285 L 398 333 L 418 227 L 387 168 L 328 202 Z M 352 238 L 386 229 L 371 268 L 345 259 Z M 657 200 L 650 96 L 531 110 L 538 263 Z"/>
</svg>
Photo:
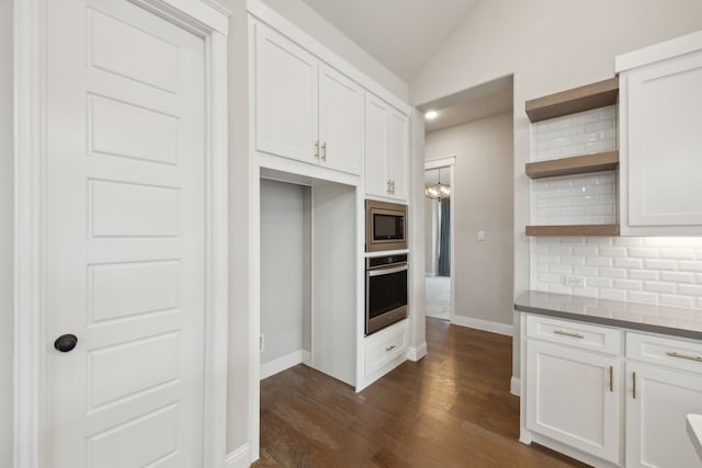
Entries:
<svg viewBox="0 0 702 468">
<path fill-rule="evenodd" d="M 45 457 L 46 4 L 14 0 L 14 467 Z M 227 28 L 210 2 L 129 0 L 205 45 L 205 369 L 203 466 L 224 467 L 227 406 Z M 225 260 L 223 260 L 225 259 Z"/>
</svg>

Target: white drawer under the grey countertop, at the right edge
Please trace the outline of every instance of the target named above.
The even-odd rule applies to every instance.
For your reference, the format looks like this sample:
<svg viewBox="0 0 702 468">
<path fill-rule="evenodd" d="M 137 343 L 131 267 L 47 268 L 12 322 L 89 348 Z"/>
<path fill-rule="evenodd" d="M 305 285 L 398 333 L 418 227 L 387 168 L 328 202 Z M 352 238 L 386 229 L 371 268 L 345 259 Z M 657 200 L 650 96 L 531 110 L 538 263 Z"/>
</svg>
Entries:
<svg viewBox="0 0 702 468">
<path fill-rule="evenodd" d="M 702 374 L 702 342 L 626 333 L 626 357 Z"/>
</svg>

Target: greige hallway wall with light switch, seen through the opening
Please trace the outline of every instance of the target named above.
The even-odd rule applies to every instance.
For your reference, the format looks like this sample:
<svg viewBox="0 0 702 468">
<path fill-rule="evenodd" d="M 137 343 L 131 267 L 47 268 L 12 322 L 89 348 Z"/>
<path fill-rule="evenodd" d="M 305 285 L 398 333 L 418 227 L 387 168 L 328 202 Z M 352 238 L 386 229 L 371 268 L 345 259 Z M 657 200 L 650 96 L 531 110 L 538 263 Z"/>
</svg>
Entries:
<svg viewBox="0 0 702 468">
<path fill-rule="evenodd" d="M 427 160 L 455 155 L 455 315 L 512 324 L 512 113 L 433 132 Z M 484 230 L 486 240 L 477 240 Z M 460 319 L 456 319 L 460 323 Z"/>
</svg>

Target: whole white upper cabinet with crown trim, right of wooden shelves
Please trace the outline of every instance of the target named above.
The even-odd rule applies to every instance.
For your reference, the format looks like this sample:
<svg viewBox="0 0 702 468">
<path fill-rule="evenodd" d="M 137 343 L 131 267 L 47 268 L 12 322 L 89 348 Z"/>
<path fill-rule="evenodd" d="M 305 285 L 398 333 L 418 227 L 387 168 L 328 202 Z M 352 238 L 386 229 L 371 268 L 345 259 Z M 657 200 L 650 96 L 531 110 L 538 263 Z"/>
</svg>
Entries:
<svg viewBox="0 0 702 468">
<path fill-rule="evenodd" d="M 702 235 L 702 32 L 616 57 L 621 230 Z"/>
</svg>

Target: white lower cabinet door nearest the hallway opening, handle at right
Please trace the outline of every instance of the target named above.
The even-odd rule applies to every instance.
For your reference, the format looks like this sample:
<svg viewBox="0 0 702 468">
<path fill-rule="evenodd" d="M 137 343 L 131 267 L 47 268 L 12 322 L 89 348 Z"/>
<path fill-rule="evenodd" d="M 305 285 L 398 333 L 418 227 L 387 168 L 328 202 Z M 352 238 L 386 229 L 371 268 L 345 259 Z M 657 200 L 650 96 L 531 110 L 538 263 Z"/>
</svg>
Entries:
<svg viewBox="0 0 702 468">
<path fill-rule="evenodd" d="M 526 427 L 618 464 L 620 361 L 529 340 Z"/>
</svg>

